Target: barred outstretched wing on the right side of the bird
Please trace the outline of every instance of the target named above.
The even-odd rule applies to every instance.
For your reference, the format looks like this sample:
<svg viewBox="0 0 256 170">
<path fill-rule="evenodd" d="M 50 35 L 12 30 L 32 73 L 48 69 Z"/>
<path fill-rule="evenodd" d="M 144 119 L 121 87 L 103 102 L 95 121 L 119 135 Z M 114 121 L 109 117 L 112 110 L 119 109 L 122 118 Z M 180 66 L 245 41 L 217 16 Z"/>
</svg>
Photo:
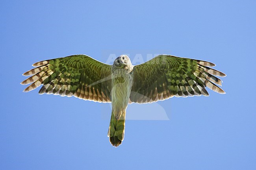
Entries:
<svg viewBox="0 0 256 170">
<path fill-rule="evenodd" d="M 158 55 L 148 62 L 134 66 L 130 102 L 150 103 L 173 96 L 208 96 L 206 87 L 217 93 L 225 93 L 215 85 L 221 86 L 221 80 L 215 76 L 226 75 L 209 68 L 213 66 L 215 64 L 206 61 Z"/>
</svg>

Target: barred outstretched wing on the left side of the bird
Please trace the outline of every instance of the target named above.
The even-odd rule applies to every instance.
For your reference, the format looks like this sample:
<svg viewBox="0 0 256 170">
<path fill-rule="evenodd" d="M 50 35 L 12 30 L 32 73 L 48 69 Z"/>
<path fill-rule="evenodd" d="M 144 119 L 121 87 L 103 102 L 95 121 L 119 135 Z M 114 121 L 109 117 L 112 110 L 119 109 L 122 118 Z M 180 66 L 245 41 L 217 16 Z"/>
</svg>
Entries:
<svg viewBox="0 0 256 170">
<path fill-rule="evenodd" d="M 111 65 L 87 55 L 72 55 L 37 62 L 36 67 L 24 73 L 31 76 L 21 82 L 30 84 L 24 91 L 43 84 L 39 94 L 74 96 L 95 102 L 111 102 Z"/>
</svg>

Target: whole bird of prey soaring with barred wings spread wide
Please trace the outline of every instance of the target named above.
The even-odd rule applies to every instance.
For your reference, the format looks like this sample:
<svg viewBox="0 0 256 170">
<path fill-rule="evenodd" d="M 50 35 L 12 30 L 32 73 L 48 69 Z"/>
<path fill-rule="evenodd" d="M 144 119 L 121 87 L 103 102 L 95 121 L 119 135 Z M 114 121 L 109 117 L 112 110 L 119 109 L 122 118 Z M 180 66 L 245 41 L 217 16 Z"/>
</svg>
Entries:
<svg viewBox="0 0 256 170">
<path fill-rule="evenodd" d="M 113 65 L 87 55 L 72 55 L 36 62 L 32 66 L 35 68 L 23 74 L 31 77 L 21 84 L 32 83 L 25 92 L 43 84 L 39 94 L 111 102 L 108 137 L 115 147 L 124 140 L 126 108 L 130 103 L 151 103 L 173 96 L 208 96 L 206 87 L 225 93 L 219 88 L 222 81 L 215 76 L 226 75 L 210 68 L 215 64 L 173 55 L 158 55 L 137 66 L 132 65 L 127 55 L 117 57 Z"/>
</svg>

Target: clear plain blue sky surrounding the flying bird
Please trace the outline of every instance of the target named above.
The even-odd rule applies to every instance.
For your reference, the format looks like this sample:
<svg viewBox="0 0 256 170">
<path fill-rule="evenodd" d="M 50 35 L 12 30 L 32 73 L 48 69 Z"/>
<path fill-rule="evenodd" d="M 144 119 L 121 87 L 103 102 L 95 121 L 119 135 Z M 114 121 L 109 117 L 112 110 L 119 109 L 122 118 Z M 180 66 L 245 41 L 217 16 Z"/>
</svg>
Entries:
<svg viewBox="0 0 256 170">
<path fill-rule="evenodd" d="M 256 169 L 255 16 L 253 0 L 1 0 L 0 169 Z M 213 62 L 226 94 L 130 105 L 131 119 L 152 111 L 169 121 L 128 120 L 113 148 L 109 104 L 22 93 L 34 62 L 124 53 Z"/>
</svg>

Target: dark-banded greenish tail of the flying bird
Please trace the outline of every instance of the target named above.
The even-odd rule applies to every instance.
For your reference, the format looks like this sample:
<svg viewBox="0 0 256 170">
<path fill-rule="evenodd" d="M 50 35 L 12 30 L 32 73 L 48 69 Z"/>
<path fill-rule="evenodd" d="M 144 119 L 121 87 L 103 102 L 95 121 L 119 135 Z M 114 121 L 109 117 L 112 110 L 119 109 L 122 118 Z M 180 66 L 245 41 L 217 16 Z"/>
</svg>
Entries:
<svg viewBox="0 0 256 170">
<path fill-rule="evenodd" d="M 124 126 L 125 126 L 125 111 L 122 112 L 120 118 L 116 118 L 115 115 L 111 114 L 111 120 L 108 129 L 108 137 L 110 143 L 117 147 L 124 140 Z"/>
</svg>

